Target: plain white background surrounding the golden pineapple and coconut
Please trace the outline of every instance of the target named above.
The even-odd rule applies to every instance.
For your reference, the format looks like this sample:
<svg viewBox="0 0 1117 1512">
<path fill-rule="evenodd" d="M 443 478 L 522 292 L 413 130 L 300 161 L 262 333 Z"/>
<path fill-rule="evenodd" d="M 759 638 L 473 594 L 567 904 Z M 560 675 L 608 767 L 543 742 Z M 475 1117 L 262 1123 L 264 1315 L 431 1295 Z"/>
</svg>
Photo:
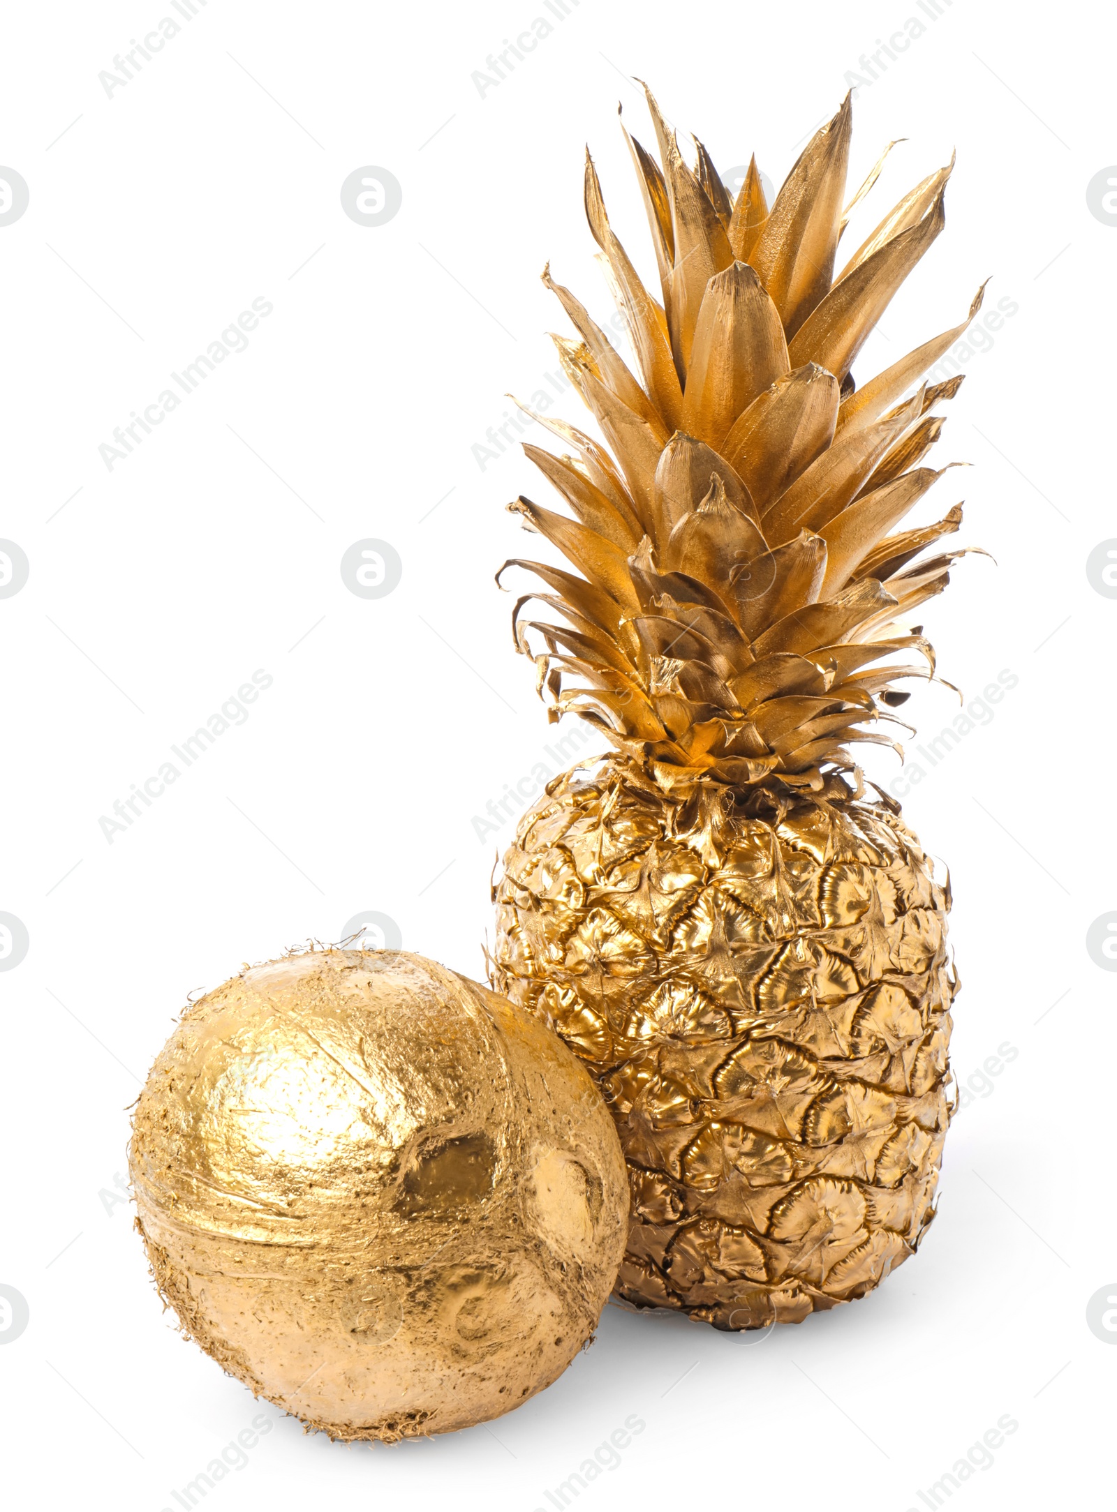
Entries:
<svg viewBox="0 0 1117 1512">
<path fill-rule="evenodd" d="M 1085 189 L 1117 162 L 1117 38 L 1100 9 L 940 5 L 932 21 L 916 0 L 581 0 L 560 24 L 542 0 L 210 0 L 110 97 L 98 73 L 170 3 L 9 9 L 0 160 L 30 186 L 0 228 L 0 535 L 30 561 L 0 600 L 0 909 L 30 936 L 0 975 L 0 1282 L 30 1309 L 0 1349 L 12 1506 L 176 1507 L 263 1406 L 174 1332 L 132 1210 L 107 1196 L 126 1107 L 186 993 L 362 910 L 483 975 L 513 826 L 481 841 L 472 821 L 555 732 L 492 582 L 506 556 L 546 550 L 502 505 L 548 490 L 518 452 L 481 469 L 471 448 L 506 390 L 530 396 L 557 366 L 546 257 L 608 314 L 584 142 L 648 272 L 618 98 L 651 129 L 628 76 L 719 165 L 755 150 L 779 183 L 846 71 L 908 17 L 925 35 L 855 100 L 851 189 L 908 141 L 851 248 L 955 145 L 958 168 L 946 233 L 857 372 L 954 325 L 987 275 L 993 304 L 1019 305 L 949 408 L 938 458 L 973 467 L 926 510 L 964 496 L 964 540 L 996 558 L 967 558 L 926 612 L 943 676 L 967 696 L 1002 668 L 1019 685 L 905 798 L 954 880 L 958 1077 L 1017 1054 L 976 1078 L 990 1090 L 947 1140 L 938 1220 L 870 1299 L 769 1337 L 610 1306 L 593 1349 L 515 1414 L 395 1448 L 304 1438 L 266 1408 L 272 1430 L 204 1504 L 530 1512 L 630 1414 L 646 1430 L 580 1507 L 922 1509 L 1005 1414 L 1017 1430 L 951 1506 L 1105 1483 L 1117 1349 L 1085 1309 L 1117 1276 L 1114 978 L 1085 931 L 1117 907 L 1117 602 L 1085 559 L 1117 535 L 1117 227 Z M 481 97 L 472 71 L 539 15 L 552 35 Z M 363 165 L 403 186 L 389 224 L 342 213 Z M 274 310 L 248 349 L 109 472 L 114 428 L 257 296 Z M 587 423 L 569 393 L 562 408 Z M 366 537 L 403 561 L 375 602 L 339 575 Z M 109 844 L 114 800 L 256 668 L 274 682 L 247 723 Z M 920 739 L 951 700 L 913 699 Z M 891 782 L 896 762 L 870 770 Z"/>
</svg>

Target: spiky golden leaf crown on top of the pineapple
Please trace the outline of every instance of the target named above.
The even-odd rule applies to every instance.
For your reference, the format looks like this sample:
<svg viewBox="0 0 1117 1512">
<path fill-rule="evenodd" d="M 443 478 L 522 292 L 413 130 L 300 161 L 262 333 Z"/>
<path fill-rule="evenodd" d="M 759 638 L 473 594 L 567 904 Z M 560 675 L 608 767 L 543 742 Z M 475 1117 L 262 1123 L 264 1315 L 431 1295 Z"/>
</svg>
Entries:
<svg viewBox="0 0 1117 1512">
<path fill-rule="evenodd" d="M 899 679 L 932 677 L 935 664 L 922 627 L 899 621 L 943 591 L 964 555 L 916 561 L 958 529 L 960 503 L 935 525 L 893 532 L 941 475 L 917 464 L 943 426 L 929 411 L 961 376 L 904 396 L 963 334 L 982 290 L 961 325 L 861 389 L 851 375 L 943 230 L 954 159 L 907 194 L 835 277 L 849 213 L 895 145 L 843 209 L 849 97 L 769 209 L 755 159 L 733 203 L 705 147 L 696 141 L 689 168 L 645 92 L 660 163 L 625 139 L 663 304 L 615 236 L 586 154 L 586 215 L 640 381 L 548 266 L 543 283 L 580 337 L 554 337 L 560 360 L 608 451 L 527 411 L 574 449 L 555 457 L 524 446 L 572 517 L 524 496 L 509 510 L 575 572 L 513 558 L 498 582 L 515 565 L 551 590 L 521 597 L 512 621 L 552 721 L 580 714 L 666 791 L 825 792 L 840 771 L 857 773 L 852 742 L 901 750 L 867 726 L 907 700 Z M 525 618 L 533 600 L 566 623 Z M 891 659 L 904 652 L 923 664 Z"/>
</svg>

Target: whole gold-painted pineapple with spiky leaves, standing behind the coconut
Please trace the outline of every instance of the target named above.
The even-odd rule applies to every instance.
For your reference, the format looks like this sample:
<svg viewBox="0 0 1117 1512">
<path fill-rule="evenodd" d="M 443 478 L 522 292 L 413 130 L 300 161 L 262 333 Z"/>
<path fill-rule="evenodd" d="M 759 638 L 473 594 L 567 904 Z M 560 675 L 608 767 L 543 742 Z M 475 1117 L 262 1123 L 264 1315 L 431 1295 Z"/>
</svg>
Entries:
<svg viewBox="0 0 1117 1512">
<path fill-rule="evenodd" d="M 898 679 L 934 673 L 910 617 L 961 553 L 914 558 L 961 507 L 896 528 L 940 476 L 919 461 L 961 380 L 914 386 L 981 293 L 855 389 L 861 345 L 943 228 L 951 169 L 835 277 L 849 100 L 770 210 L 755 162 L 731 203 L 705 148 L 690 169 L 648 104 L 661 166 L 628 141 L 661 305 L 586 163 L 640 381 L 548 269 L 578 333 L 555 339 L 565 370 L 608 449 L 537 416 L 572 448 L 525 448 L 572 517 L 510 508 L 575 570 L 506 564 L 549 590 L 513 612 L 549 718 L 577 712 L 616 751 L 524 815 L 493 983 L 611 1105 L 631 1185 L 619 1296 L 761 1328 L 864 1296 L 934 1217 L 949 891 L 849 748 L 895 744 L 869 726 L 908 697 Z M 565 623 L 527 620 L 533 597 Z"/>
</svg>

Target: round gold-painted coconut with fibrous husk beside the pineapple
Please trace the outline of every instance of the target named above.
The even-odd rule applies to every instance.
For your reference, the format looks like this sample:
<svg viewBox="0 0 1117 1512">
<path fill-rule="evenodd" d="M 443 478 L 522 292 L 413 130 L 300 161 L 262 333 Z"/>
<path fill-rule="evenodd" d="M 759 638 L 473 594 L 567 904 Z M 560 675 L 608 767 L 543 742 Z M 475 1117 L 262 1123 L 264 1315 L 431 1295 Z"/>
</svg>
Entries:
<svg viewBox="0 0 1117 1512">
<path fill-rule="evenodd" d="M 188 1009 L 129 1164 L 183 1332 L 336 1439 L 468 1427 L 549 1385 L 628 1226 L 571 1051 L 404 951 L 291 956 Z"/>
</svg>

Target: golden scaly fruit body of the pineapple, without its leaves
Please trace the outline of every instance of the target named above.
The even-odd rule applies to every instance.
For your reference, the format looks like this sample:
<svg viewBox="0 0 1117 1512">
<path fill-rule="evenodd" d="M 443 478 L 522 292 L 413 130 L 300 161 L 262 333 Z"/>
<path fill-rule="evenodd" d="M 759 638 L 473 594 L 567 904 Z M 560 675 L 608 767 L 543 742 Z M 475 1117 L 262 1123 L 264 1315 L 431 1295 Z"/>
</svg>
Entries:
<svg viewBox="0 0 1117 1512">
<path fill-rule="evenodd" d="M 723 1329 L 864 1296 L 934 1217 L 947 892 L 885 803 L 671 798 L 624 759 L 524 815 L 495 984 L 598 1078 L 628 1163 L 618 1294 Z"/>
</svg>

